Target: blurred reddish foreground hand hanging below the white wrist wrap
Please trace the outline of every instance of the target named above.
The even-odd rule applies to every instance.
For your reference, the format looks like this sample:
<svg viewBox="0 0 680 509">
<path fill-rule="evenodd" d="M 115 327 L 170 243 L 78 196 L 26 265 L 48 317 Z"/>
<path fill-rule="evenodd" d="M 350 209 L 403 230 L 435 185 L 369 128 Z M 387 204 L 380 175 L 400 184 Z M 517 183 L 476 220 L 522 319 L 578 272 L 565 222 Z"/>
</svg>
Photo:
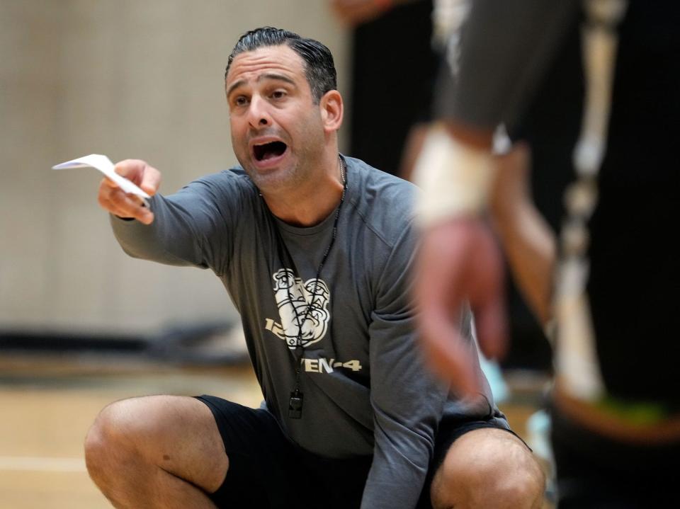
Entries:
<svg viewBox="0 0 680 509">
<path fill-rule="evenodd" d="M 502 256 L 487 224 L 460 217 L 429 227 L 416 264 L 421 340 L 431 367 L 461 396 L 482 392 L 477 353 L 460 336 L 465 301 L 475 314 L 477 340 L 488 358 L 507 345 Z"/>
</svg>

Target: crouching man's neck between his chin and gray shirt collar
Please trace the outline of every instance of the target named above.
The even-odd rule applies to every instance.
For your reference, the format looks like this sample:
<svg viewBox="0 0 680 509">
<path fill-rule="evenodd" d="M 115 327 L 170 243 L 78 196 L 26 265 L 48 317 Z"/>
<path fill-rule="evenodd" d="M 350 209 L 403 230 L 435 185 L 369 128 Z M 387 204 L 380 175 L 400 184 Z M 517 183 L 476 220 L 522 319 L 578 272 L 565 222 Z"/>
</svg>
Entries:
<svg viewBox="0 0 680 509">
<path fill-rule="evenodd" d="M 295 193 L 263 193 L 272 214 L 295 227 L 312 227 L 326 219 L 340 203 L 343 184 L 337 156 L 324 166 L 327 171 L 304 187 L 298 186 Z"/>
</svg>

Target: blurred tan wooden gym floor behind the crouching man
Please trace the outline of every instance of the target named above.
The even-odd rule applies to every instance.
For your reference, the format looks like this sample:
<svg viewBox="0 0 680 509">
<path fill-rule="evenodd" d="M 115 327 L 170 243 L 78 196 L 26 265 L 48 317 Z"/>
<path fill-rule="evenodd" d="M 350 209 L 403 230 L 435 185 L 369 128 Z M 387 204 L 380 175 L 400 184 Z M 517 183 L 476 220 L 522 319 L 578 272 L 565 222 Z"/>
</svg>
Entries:
<svg viewBox="0 0 680 509">
<path fill-rule="evenodd" d="M 0 355 L 0 509 L 110 508 L 86 473 L 82 442 L 103 406 L 144 394 L 215 394 L 249 406 L 261 400 L 250 367 Z M 525 396 L 502 406 L 521 435 L 536 402 Z"/>
</svg>

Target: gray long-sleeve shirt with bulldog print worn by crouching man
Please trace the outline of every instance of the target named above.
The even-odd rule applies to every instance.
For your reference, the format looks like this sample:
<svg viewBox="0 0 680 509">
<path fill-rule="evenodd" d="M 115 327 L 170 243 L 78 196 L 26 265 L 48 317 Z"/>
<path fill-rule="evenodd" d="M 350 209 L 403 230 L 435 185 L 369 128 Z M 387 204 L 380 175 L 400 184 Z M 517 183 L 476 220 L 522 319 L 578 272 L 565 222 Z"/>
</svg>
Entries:
<svg viewBox="0 0 680 509">
<path fill-rule="evenodd" d="M 266 406 L 290 438 L 323 457 L 373 454 L 362 507 L 413 508 L 443 413 L 503 418 L 488 390 L 475 401 L 448 399 L 414 343 L 414 186 L 357 159 L 346 163 L 337 239 L 315 293 L 334 214 L 310 228 L 285 224 L 239 169 L 157 195 L 151 225 L 113 217 L 113 230 L 131 256 L 212 269 L 241 313 Z M 299 278 L 289 289 L 286 269 Z M 291 419 L 297 361 L 289 343 L 297 340 L 295 312 L 302 321 L 312 293 L 302 324 L 304 408 Z M 463 329 L 471 338 L 469 314 Z"/>
</svg>

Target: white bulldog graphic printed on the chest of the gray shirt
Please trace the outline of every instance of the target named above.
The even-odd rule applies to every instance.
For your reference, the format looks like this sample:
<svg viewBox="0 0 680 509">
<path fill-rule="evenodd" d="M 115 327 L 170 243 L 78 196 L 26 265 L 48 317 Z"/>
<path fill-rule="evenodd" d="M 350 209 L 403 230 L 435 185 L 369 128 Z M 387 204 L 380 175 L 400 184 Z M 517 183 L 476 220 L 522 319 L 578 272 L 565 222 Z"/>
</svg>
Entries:
<svg viewBox="0 0 680 509">
<path fill-rule="evenodd" d="M 320 341 L 326 335 L 330 318 L 327 309 L 330 296 L 328 285 L 316 278 L 305 281 L 303 285 L 302 279 L 295 277 L 293 270 L 287 268 L 277 270 L 272 278 L 281 325 L 277 327 L 278 324 L 272 323 L 270 327 L 268 319 L 267 328 L 283 339 L 291 350 L 297 345 L 300 328 L 303 348 Z M 278 330 L 275 331 L 275 328 Z"/>
</svg>

